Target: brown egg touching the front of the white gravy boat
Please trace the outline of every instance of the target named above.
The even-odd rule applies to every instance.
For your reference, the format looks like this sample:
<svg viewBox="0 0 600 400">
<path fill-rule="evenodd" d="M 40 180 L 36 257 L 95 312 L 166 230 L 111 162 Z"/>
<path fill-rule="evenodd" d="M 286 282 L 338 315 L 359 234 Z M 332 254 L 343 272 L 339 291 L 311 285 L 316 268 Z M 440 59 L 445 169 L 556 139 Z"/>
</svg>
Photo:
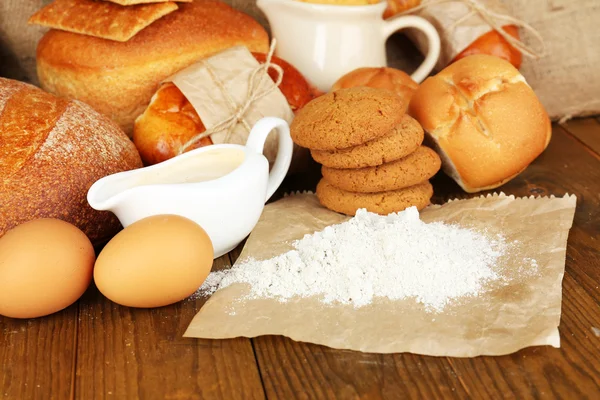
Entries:
<svg viewBox="0 0 600 400">
<path fill-rule="evenodd" d="M 213 263 L 213 245 L 200 225 L 176 215 L 137 221 L 102 250 L 94 281 L 103 295 L 129 307 L 162 307 L 193 294 Z"/>
</svg>

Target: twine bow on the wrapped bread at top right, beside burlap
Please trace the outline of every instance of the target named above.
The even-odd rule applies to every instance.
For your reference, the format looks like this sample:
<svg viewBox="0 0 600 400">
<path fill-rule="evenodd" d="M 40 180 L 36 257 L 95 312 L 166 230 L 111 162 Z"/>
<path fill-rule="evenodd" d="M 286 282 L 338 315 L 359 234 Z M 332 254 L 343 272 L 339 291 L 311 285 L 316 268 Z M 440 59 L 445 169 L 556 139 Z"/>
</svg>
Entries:
<svg viewBox="0 0 600 400">
<path fill-rule="evenodd" d="M 512 17 L 510 15 L 499 14 L 497 12 L 494 12 L 494 11 L 490 10 L 489 8 L 487 8 L 486 6 L 484 6 L 479 0 L 430 0 L 430 1 L 424 2 L 423 4 L 421 4 L 417 7 L 413 7 L 407 11 L 400 13 L 400 15 L 412 14 L 412 13 L 415 13 L 417 11 L 423 10 L 429 6 L 433 6 L 436 4 L 453 3 L 453 2 L 459 2 L 459 3 L 465 4 L 467 7 L 469 7 L 470 11 L 467 14 L 465 14 L 464 16 L 462 16 L 461 18 L 459 18 L 456 22 L 454 22 L 454 24 L 452 24 L 452 26 L 451 26 L 452 30 L 456 29 L 457 26 L 459 26 L 460 24 L 462 24 L 464 21 L 471 18 L 472 16 L 479 15 L 479 17 L 483 21 L 485 21 L 493 30 L 498 32 L 498 34 L 500 36 L 502 36 L 508 43 L 510 43 L 511 46 L 513 46 L 515 49 L 519 50 L 522 54 L 524 54 L 528 57 L 534 58 L 534 59 L 539 59 L 539 58 L 543 57 L 544 54 L 546 53 L 546 46 L 544 44 L 544 39 L 539 34 L 539 32 L 537 30 L 535 30 L 534 27 L 532 27 L 525 21 L 520 20 L 518 18 Z M 511 25 L 516 25 L 516 26 L 523 28 L 523 29 L 527 30 L 528 32 L 530 32 L 540 43 L 541 50 L 535 51 L 531 47 L 528 47 L 522 41 L 509 35 L 504 30 L 504 28 L 502 28 L 503 21 L 505 23 L 508 22 Z"/>
</svg>

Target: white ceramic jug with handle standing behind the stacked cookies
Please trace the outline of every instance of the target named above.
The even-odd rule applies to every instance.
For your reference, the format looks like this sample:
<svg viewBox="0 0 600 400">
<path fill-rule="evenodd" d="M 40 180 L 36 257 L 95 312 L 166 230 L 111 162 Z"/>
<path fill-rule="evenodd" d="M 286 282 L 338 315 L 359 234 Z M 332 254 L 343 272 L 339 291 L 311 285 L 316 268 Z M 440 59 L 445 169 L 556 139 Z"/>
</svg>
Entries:
<svg viewBox="0 0 600 400">
<path fill-rule="evenodd" d="M 425 19 L 398 16 L 383 20 L 387 2 L 365 6 L 257 0 L 277 39 L 275 54 L 294 65 L 313 85 L 329 91 L 342 75 L 360 67 L 385 67 L 385 42 L 394 32 L 416 28 L 427 36 L 429 50 L 412 74 L 421 82 L 440 55 L 440 38 Z"/>
</svg>

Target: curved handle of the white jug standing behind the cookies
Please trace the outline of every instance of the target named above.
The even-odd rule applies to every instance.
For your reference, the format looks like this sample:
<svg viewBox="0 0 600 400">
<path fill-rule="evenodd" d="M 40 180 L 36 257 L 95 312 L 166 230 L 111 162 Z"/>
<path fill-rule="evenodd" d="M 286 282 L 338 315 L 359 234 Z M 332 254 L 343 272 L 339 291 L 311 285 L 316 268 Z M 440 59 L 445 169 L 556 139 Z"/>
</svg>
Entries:
<svg viewBox="0 0 600 400">
<path fill-rule="evenodd" d="M 392 17 L 384 21 L 383 36 L 385 39 L 390 37 L 394 32 L 404 28 L 416 28 L 423 32 L 427 37 L 427 55 L 425 60 L 410 76 L 415 82 L 421 83 L 435 67 L 440 58 L 440 35 L 437 30 L 425 18 L 415 15 L 403 15 Z"/>
</svg>

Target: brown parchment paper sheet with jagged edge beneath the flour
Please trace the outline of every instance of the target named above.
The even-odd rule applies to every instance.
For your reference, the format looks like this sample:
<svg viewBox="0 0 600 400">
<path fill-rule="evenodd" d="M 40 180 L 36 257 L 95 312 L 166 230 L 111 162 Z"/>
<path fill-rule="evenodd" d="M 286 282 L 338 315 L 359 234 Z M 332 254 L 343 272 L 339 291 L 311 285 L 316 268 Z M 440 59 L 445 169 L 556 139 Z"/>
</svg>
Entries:
<svg viewBox="0 0 600 400">
<path fill-rule="evenodd" d="M 297 341 L 373 353 L 411 352 L 474 357 L 528 346 L 560 346 L 561 282 L 575 196 L 514 198 L 504 194 L 456 200 L 421 212 L 426 222 L 444 221 L 517 240 L 499 268 L 508 283 L 433 314 L 412 299 L 376 298 L 360 309 L 324 305 L 317 298 L 244 299 L 246 284 L 217 291 L 194 317 L 185 336 L 197 338 L 284 335 Z M 313 194 L 285 197 L 265 207 L 238 263 L 268 259 L 290 242 L 347 217 L 322 208 Z M 523 259 L 538 263 L 527 273 Z"/>
</svg>

